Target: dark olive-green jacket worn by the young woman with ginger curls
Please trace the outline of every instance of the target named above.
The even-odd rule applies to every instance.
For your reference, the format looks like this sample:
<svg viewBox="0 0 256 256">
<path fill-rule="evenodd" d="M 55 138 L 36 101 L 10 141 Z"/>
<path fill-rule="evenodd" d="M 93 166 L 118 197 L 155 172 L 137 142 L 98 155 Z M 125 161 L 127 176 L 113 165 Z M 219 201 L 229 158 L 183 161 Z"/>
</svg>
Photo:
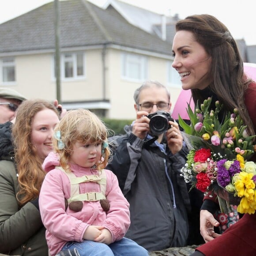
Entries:
<svg viewBox="0 0 256 256">
<path fill-rule="evenodd" d="M 11 124 L 0 124 L 0 253 L 48 256 L 45 228 L 33 203 L 20 207 L 18 177 L 13 162 Z"/>
</svg>

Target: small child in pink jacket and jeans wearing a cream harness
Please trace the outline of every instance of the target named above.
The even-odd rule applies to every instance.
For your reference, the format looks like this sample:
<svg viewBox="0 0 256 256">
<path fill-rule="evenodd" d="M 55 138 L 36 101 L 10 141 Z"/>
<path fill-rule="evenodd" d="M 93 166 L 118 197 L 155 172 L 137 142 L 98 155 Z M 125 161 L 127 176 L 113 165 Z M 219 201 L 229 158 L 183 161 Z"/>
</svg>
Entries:
<svg viewBox="0 0 256 256">
<path fill-rule="evenodd" d="M 128 201 L 117 177 L 104 169 L 108 132 L 89 110 L 70 110 L 56 125 L 53 151 L 39 207 L 50 254 L 76 248 L 80 256 L 144 256 L 148 252 L 124 238 L 130 226 Z"/>
</svg>

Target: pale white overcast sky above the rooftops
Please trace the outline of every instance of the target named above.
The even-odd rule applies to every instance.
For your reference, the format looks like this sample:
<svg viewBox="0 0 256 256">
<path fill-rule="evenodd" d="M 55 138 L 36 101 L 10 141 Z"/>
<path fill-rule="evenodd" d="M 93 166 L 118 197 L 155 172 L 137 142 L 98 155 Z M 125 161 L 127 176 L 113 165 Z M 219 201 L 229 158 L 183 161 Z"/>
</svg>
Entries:
<svg viewBox="0 0 256 256">
<path fill-rule="evenodd" d="M 252 0 L 123 0 L 129 4 L 158 12 L 179 14 L 185 18 L 192 14 L 211 14 L 222 21 L 235 39 L 245 39 L 247 45 L 256 45 L 255 9 Z M 0 23 L 37 8 L 51 0 L 0 0 Z M 90 0 L 103 6 L 107 0 Z"/>
</svg>

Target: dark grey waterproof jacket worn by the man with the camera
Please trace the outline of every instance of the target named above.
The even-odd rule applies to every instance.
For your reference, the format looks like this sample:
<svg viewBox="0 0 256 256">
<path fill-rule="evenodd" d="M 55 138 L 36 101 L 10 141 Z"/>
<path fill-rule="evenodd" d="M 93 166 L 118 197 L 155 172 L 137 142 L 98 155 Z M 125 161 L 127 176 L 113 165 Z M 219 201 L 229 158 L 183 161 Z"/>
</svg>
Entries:
<svg viewBox="0 0 256 256">
<path fill-rule="evenodd" d="M 167 148 L 163 154 L 155 143 L 147 145 L 133 135 L 131 126 L 125 131 L 126 135 L 109 139 L 118 146 L 112 147 L 113 159 L 106 166 L 117 175 L 130 203 L 131 226 L 125 237 L 149 251 L 186 245 L 190 200 L 180 169 L 187 148 L 172 155 L 162 143 Z"/>
</svg>

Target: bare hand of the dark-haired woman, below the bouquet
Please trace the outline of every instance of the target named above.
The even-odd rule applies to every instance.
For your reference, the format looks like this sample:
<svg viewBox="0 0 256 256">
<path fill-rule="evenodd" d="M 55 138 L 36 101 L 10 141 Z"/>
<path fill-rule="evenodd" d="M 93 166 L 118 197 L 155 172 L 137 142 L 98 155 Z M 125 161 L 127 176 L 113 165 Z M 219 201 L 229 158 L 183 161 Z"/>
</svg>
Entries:
<svg viewBox="0 0 256 256">
<path fill-rule="evenodd" d="M 214 231 L 214 227 L 218 226 L 219 222 L 213 217 L 213 215 L 209 211 L 200 211 L 200 233 L 206 243 L 218 236 L 221 236 Z"/>
</svg>

